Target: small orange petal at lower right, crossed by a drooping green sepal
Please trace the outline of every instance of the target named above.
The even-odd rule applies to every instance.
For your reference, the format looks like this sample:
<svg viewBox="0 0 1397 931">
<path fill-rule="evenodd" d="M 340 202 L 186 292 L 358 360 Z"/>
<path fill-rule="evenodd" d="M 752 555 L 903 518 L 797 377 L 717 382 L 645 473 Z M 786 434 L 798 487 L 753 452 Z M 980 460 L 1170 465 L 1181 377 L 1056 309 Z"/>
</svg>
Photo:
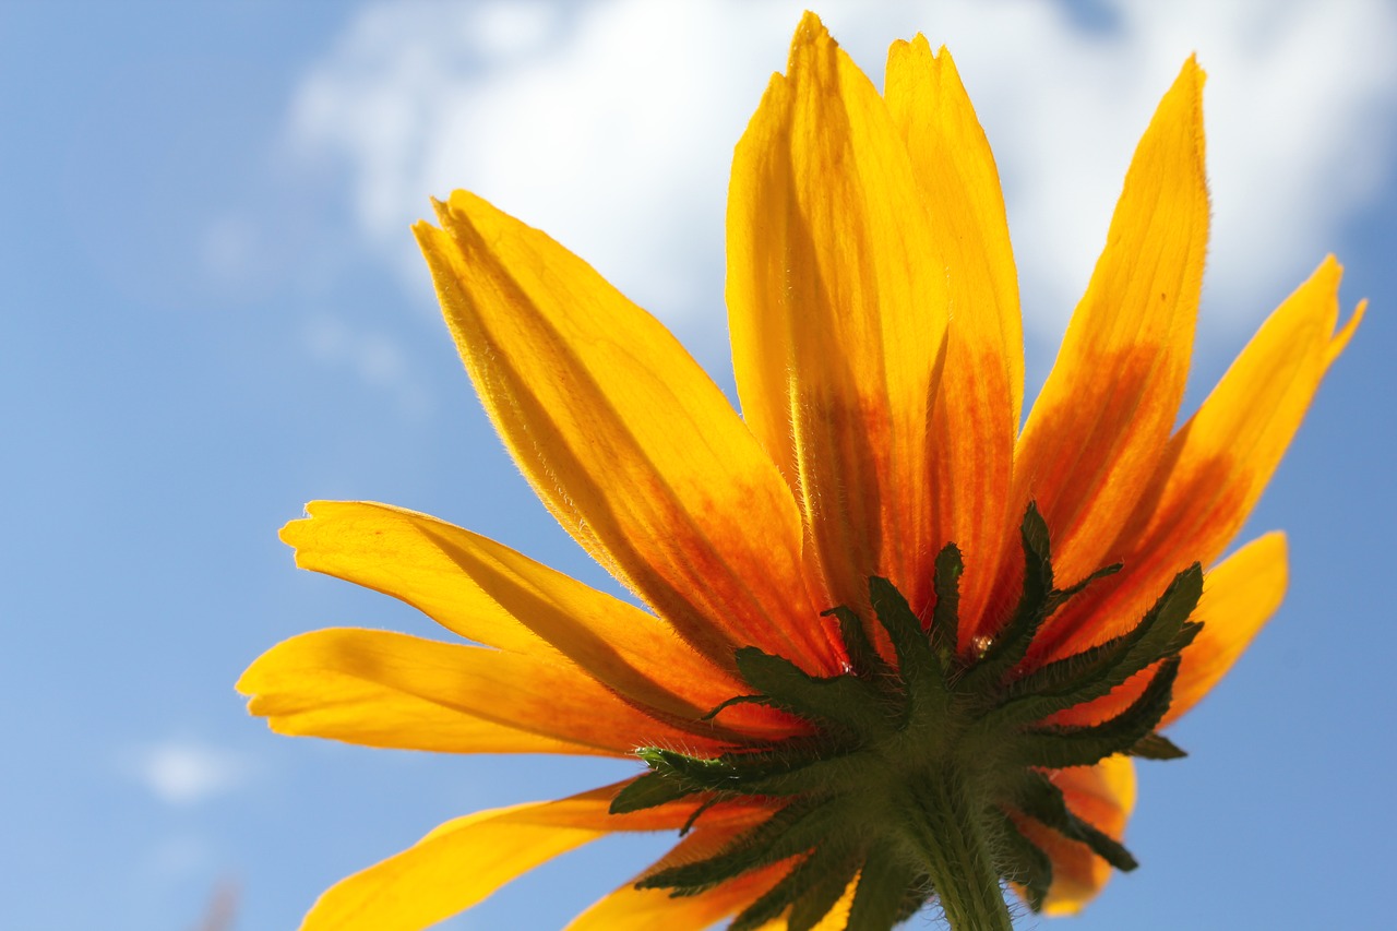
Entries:
<svg viewBox="0 0 1397 931">
<path fill-rule="evenodd" d="M 1134 763 L 1129 756 L 1108 756 L 1095 766 L 1076 766 L 1051 773 L 1067 807 L 1116 840 L 1125 836 L 1134 809 Z M 1111 878 L 1111 864 L 1087 844 L 1067 840 L 1032 819 L 1018 819 L 1020 830 L 1052 860 L 1052 888 L 1044 913 L 1074 914 L 1101 892 Z"/>
</svg>

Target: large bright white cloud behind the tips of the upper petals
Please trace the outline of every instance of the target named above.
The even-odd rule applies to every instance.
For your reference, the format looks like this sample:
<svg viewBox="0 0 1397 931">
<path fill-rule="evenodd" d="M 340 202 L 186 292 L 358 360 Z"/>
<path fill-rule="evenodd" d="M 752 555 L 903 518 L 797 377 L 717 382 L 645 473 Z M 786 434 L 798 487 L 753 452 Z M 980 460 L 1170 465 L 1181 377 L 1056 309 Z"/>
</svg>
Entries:
<svg viewBox="0 0 1397 931">
<path fill-rule="evenodd" d="M 870 73 L 921 29 L 956 55 L 995 144 L 1030 326 L 1063 324 L 1130 151 L 1197 50 L 1214 239 L 1208 313 L 1253 320 L 1390 180 L 1397 8 L 1384 0 L 820 4 Z M 412 281 L 429 194 L 468 187 L 671 322 L 721 326 L 731 150 L 802 4 L 370 3 L 307 73 L 293 150 L 351 172 L 362 233 Z M 418 291 L 416 288 L 414 291 Z"/>
</svg>

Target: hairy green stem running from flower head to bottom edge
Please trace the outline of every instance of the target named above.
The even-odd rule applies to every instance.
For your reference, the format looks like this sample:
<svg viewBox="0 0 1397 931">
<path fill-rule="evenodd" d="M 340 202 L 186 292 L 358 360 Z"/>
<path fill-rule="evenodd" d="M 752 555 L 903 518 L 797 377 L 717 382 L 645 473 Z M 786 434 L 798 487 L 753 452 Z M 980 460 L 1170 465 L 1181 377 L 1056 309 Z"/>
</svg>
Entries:
<svg viewBox="0 0 1397 931">
<path fill-rule="evenodd" d="M 951 931 L 1013 931 L 989 850 L 982 807 L 965 780 L 943 770 L 907 793 L 908 839 L 932 879 Z"/>
</svg>

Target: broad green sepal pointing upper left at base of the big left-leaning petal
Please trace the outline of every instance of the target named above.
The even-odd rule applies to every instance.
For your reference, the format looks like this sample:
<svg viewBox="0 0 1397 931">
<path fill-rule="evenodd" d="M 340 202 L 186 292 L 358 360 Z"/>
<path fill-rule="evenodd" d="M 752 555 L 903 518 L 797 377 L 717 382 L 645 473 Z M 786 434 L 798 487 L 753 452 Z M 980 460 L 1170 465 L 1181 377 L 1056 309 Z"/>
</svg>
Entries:
<svg viewBox="0 0 1397 931">
<path fill-rule="evenodd" d="M 761 693 L 764 703 L 814 724 L 834 724 L 858 737 L 890 730 L 882 695 L 858 677 L 816 678 L 795 663 L 757 647 L 742 647 L 736 660 L 738 672 Z"/>
</svg>

